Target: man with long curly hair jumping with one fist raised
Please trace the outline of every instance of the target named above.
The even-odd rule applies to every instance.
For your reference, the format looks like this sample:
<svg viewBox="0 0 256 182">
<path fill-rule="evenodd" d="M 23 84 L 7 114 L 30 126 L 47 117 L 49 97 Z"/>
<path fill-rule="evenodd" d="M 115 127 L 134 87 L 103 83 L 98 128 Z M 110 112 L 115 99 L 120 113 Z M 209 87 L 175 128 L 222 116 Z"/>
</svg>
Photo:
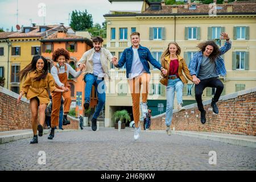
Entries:
<svg viewBox="0 0 256 182">
<path fill-rule="evenodd" d="M 228 34 L 222 32 L 220 39 L 226 39 L 224 46 L 218 48 L 213 40 L 199 44 L 201 51 L 195 53 L 191 63 L 189 64 L 189 71 L 193 78 L 195 86 L 196 102 L 199 111 L 201 112 L 201 123 L 206 122 L 202 94 L 205 88 L 216 88 L 214 97 L 212 98 L 211 106 L 213 112 L 218 114 L 218 107 L 216 102 L 224 89 L 224 85 L 218 79 L 218 75 L 225 76 L 226 68 L 224 60 L 220 57 L 231 48 L 231 42 Z"/>
</svg>

